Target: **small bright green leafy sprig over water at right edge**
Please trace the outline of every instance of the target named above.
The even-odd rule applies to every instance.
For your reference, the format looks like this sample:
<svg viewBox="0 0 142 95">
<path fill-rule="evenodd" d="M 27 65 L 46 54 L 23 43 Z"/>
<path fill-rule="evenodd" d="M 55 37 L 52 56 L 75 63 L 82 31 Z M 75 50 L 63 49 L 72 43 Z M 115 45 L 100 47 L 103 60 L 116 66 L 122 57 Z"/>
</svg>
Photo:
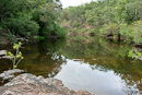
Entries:
<svg viewBox="0 0 142 95">
<path fill-rule="evenodd" d="M 129 51 L 128 57 L 138 60 L 138 59 L 140 59 L 142 57 L 142 52 L 139 52 L 135 49 L 132 49 L 132 50 Z"/>
</svg>

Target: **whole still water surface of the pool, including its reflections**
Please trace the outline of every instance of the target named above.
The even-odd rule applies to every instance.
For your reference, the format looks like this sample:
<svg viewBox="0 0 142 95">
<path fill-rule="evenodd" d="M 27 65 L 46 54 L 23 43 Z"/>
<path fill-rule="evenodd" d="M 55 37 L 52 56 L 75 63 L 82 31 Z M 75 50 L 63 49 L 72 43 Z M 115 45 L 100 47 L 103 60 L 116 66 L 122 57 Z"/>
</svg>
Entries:
<svg viewBox="0 0 142 95">
<path fill-rule="evenodd" d="M 9 49 L 2 47 L 1 49 Z M 74 91 L 96 95 L 142 95 L 142 61 L 127 57 L 131 45 L 91 37 L 24 45 L 19 68 L 28 73 L 56 78 Z M 12 63 L 0 60 L 0 72 Z"/>
</svg>

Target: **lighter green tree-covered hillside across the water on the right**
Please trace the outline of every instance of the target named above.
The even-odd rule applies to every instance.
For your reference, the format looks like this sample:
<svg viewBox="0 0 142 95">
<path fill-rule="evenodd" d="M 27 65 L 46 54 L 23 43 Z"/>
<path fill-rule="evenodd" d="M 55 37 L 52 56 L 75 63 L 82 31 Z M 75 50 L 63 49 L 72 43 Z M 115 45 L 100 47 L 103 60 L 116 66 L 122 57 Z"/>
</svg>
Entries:
<svg viewBox="0 0 142 95">
<path fill-rule="evenodd" d="M 62 25 L 71 32 L 142 43 L 142 0 L 97 0 L 64 9 Z M 85 28 L 85 29 L 84 29 Z"/>
</svg>

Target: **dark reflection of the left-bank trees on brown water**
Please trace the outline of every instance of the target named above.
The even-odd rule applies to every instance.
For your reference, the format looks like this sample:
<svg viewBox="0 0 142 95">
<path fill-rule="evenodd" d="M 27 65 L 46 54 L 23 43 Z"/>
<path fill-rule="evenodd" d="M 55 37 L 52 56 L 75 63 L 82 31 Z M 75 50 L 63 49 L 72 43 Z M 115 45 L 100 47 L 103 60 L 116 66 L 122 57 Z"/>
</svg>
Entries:
<svg viewBox="0 0 142 95">
<path fill-rule="evenodd" d="M 55 76 L 61 70 L 61 64 L 66 63 L 66 59 L 59 52 L 64 44 L 66 40 L 60 39 L 26 45 L 23 49 L 25 60 L 20 68 L 36 75 Z"/>
</svg>

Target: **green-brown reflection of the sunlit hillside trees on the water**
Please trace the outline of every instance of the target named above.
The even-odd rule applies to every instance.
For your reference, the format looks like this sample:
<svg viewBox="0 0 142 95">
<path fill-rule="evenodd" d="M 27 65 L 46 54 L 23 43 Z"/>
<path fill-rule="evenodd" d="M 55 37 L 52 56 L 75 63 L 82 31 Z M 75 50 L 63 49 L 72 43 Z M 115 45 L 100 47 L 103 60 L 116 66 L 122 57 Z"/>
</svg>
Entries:
<svg viewBox="0 0 142 95">
<path fill-rule="evenodd" d="M 113 70 L 127 83 L 129 90 L 125 92 L 132 94 L 142 92 L 142 64 L 141 61 L 128 58 L 131 48 L 131 45 L 122 41 L 109 41 L 96 37 L 87 44 L 82 43 L 82 40 L 70 41 L 62 54 L 68 59 L 82 59 L 93 70 L 97 69 L 105 72 Z M 133 86 L 139 91 L 133 92 Z"/>
</svg>

